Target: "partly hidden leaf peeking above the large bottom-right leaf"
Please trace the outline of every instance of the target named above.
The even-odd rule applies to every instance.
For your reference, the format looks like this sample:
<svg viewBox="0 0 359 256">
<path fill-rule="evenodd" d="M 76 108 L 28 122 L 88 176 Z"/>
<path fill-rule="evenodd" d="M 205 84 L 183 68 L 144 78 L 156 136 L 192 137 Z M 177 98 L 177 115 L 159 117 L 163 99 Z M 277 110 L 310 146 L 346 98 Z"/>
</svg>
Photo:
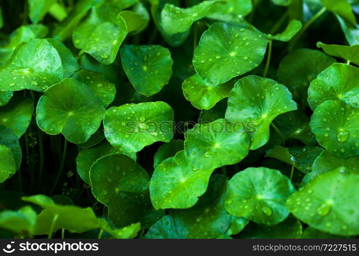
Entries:
<svg viewBox="0 0 359 256">
<path fill-rule="evenodd" d="M 349 157 L 347 159 L 333 156 L 328 151 L 323 151 L 313 163 L 313 171 L 311 172 L 311 179 L 324 173 L 328 173 L 333 169 L 344 166 L 348 172 L 359 173 L 359 156 Z"/>
</svg>

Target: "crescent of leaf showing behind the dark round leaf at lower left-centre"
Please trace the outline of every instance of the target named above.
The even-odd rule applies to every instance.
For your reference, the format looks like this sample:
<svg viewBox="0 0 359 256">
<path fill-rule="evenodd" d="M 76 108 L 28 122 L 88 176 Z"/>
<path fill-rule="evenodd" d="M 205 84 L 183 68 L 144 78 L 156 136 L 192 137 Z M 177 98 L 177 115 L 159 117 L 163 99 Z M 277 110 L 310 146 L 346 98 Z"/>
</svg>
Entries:
<svg viewBox="0 0 359 256">
<path fill-rule="evenodd" d="M 92 164 L 97 159 L 103 156 L 110 154 L 120 154 L 120 153 L 121 153 L 120 151 L 116 150 L 116 148 L 111 146 L 111 144 L 108 143 L 107 141 L 104 141 L 95 147 L 85 148 L 78 153 L 78 156 L 76 158 L 77 173 L 87 184 L 91 184 L 90 168 Z M 132 156 L 129 157 L 136 160 L 135 154 L 132 154 Z"/>
</svg>

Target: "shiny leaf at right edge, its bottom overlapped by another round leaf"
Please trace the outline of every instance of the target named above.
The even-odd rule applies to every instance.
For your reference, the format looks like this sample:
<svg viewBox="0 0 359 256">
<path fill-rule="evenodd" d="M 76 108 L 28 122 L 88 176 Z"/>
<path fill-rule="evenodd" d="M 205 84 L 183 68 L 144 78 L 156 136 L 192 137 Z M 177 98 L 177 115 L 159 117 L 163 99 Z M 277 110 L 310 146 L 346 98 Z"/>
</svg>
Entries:
<svg viewBox="0 0 359 256">
<path fill-rule="evenodd" d="M 314 79 L 308 89 L 308 102 L 314 110 L 326 100 L 341 100 L 359 108 L 359 69 L 334 63 Z"/>
</svg>

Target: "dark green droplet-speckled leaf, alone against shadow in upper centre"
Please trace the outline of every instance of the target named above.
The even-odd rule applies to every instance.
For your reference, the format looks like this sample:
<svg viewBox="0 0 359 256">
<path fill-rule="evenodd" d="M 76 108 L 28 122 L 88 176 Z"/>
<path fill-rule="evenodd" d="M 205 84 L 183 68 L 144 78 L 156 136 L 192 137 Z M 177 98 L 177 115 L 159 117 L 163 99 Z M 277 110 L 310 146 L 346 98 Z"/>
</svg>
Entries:
<svg viewBox="0 0 359 256">
<path fill-rule="evenodd" d="M 171 53 L 162 46 L 125 45 L 121 60 L 133 87 L 146 96 L 161 91 L 172 76 Z"/>
</svg>

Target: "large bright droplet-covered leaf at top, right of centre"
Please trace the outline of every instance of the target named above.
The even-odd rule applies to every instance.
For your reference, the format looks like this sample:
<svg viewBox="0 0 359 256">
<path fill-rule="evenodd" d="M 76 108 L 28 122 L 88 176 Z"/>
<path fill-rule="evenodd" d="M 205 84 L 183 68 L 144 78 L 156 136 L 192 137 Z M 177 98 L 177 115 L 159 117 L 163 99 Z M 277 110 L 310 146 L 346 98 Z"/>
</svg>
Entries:
<svg viewBox="0 0 359 256">
<path fill-rule="evenodd" d="M 268 39 L 245 28 L 214 23 L 195 49 L 193 65 L 198 75 L 221 84 L 256 68 L 263 60 Z"/>
</svg>

